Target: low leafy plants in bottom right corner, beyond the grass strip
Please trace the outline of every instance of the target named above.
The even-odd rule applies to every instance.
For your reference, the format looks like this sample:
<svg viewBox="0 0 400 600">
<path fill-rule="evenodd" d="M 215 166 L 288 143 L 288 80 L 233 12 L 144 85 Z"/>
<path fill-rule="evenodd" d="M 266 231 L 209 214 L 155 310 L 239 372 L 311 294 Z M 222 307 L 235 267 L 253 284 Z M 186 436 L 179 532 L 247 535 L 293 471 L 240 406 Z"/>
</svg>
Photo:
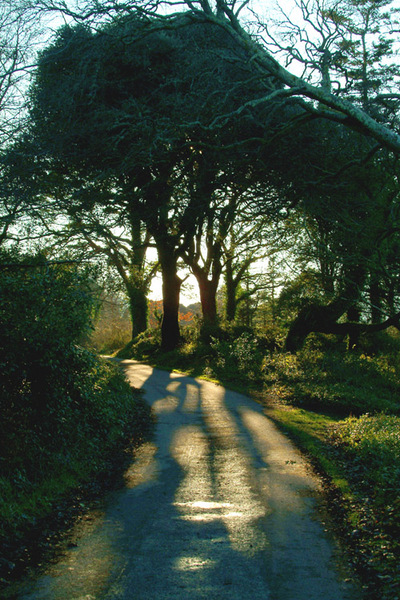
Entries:
<svg viewBox="0 0 400 600">
<path fill-rule="evenodd" d="M 333 440 L 342 450 L 342 463 L 357 492 L 351 535 L 361 549 L 358 560 L 363 571 L 370 571 L 377 580 L 374 598 L 397 598 L 400 418 L 386 414 L 351 417 L 335 427 Z"/>
</svg>

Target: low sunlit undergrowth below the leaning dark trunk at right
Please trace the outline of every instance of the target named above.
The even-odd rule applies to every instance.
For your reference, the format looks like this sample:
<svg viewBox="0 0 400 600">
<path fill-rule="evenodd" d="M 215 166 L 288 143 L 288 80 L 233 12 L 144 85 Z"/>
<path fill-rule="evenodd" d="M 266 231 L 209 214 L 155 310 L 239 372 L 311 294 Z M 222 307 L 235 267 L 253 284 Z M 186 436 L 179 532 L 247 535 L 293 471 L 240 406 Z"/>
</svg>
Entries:
<svg viewBox="0 0 400 600">
<path fill-rule="evenodd" d="M 263 361 L 266 383 L 302 408 L 360 415 L 400 411 L 400 378 L 393 361 L 305 347 L 297 355 L 273 352 Z"/>
</svg>

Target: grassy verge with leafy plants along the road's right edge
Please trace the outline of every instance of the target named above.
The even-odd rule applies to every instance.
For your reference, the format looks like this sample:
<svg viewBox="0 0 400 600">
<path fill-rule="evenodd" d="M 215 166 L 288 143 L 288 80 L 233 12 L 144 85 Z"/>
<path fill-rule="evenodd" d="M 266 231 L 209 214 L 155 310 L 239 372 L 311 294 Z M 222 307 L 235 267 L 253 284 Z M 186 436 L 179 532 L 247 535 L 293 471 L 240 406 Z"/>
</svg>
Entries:
<svg viewBox="0 0 400 600">
<path fill-rule="evenodd" d="M 344 419 L 287 406 L 268 408 L 267 414 L 322 475 L 328 509 L 360 574 L 366 597 L 397 600 L 400 597 L 399 469 L 391 447 L 393 436 L 388 434 L 385 423 L 389 420 L 389 429 L 395 428 L 398 436 L 399 418 L 378 415 Z M 372 424 L 363 427 L 365 420 Z M 361 434 L 360 427 L 364 429 Z M 387 435 L 383 433 L 385 429 Z M 390 448 L 385 449 L 389 435 Z M 357 440 L 353 447 L 351 439 Z"/>
</svg>

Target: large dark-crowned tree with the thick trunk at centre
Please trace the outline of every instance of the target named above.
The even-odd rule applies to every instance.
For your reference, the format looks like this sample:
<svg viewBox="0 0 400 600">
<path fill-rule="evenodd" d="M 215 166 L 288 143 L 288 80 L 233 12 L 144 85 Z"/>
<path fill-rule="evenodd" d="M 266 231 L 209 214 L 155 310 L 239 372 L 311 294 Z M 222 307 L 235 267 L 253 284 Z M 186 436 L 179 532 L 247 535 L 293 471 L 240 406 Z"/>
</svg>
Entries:
<svg viewBox="0 0 400 600">
<path fill-rule="evenodd" d="M 157 4 L 157 9 L 159 6 L 161 4 Z M 131 191 L 134 190 L 137 212 L 141 219 L 148 220 L 146 225 L 155 239 L 165 273 L 165 300 L 168 297 L 166 306 L 169 308 L 164 316 L 169 315 L 170 323 L 175 320 L 168 333 L 172 347 L 178 339 L 180 280 L 177 262 L 186 251 L 189 235 L 185 235 L 181 228 L 177 230 L 176 221 L 170 216 L 176 214 L 174 189 L 184 171 L 182 165 L 193 160 L 191 148 L 194 140 L 198 147 L 200 144 L 204 148 L 217 140 L 217 147 L 225 151 L 228 146 L 238 150 L 241 145 L 242 157 L 250 147 L 256 148 L 260 161 L 268 165 L 267 170 L 275 171 L 275 178 L 292 187 L 292 198 L 295 194 L 300 195 L 300 188 L 294 180 L 298 165 L 293 168 L 290 164 L 293 148 L 296 144 L 300 149 L 304 142 L 311 143 L 310 139 L 307 140 L 307 133 L 303 133 L 302 137 L 297 135 L 301 123 L 315 122 L 317 117 L 323 117 L 361 131 L 367 140 L 373 138 L 398 150 L 397 134 L 377 122 L 356 103 L 332 93 L 326 77 L 322 78 L 321 85 L 316 85 L 291 75 L 281 67 L 265 47 L 243 29 L 238 19 L 240 11 L 234 10 L 234 3 L 221 0 L 215 10 L 207 1 L 191 2 L 188 6 L 189 10 L 183 15 L 150 18 L 148 7 L 137 3 L 136 7 L 142 10 L 130 17 L 119 17 L 114 23 L 102 26 L 96 34 L 84 27 L 76 28 L 73 34 L 79 38 L 74 46 L 75 50 L 79 47 L 78 59 L 74 58 L 77 56 L 75 50 L 71 53 L 72 44 L 76 42 L 75 39 L 72 41 L 72 30 L 65 30 L 64 39 L 61 35 L 59 46 L 55 45 L 52 49 L 52 58 L 51 52 L 47 59 L 43 56 L 42 76 L 49 59 L 49 62 L 54 59 L 53 66 L 56 64 L 59 71 L 58 67 L 62 64 L 60 51 L 64 47 L 65 56 L 68 47 L 68 57 L 65 57 L 66 60 L 63 58 L 64 90 L 67 89 L 66 84 L 68 88 L 72 85 L 72 79 L 68 79 L 71 66 L 75 69 L 74 81 L 78 81 L 79 86 L 71 95 L 68 114 L 63 106 L 65 94 L 59 93 L 61 86 L 58 95 L 53 94 L 50 104 L 46 105 L 44 96 L 40 98 L 36 103 L 39 114 L 35 115 L 36 122 L 42 119 L 42 131 L 46 132 L 47 138 L 50 134 L 58 139 L 58 147 L 53 144 L 53 158 L 58 156 L 64 164 L 68 159 L 71 164 L 73 156 L 74 165 L 77 165 L 77 160 L 85 168 L 90 165 L 93 173 L 97 169 L 97 173 L 104 174 L 108 169 L 117 185 L 121 186 L 123 178 L 125 189 L 126 182 L 129 182 Z M 115 9 L 124 12 L 122 6 L 115 5 Z M 89 13 L 86 15 L 89 16 Z M 195 53 L 185 54 L 182 49 L 185 40 L 188 40 L 188 32 L 196 32 L 196 35 L 190 36 L 191 41 L 196 40 Z M 216 46 L 212 48 L 209 44 L 211 32 L 214 34 L 211 37 L 216 40 Z M 152 42 L 147 47 L 143 44 L 143 36 Z M 136 57 L 131 52 L 133 46 Z M 81 56 L 90 60 L 83 62 Z M 118 56 L 118 60 L 113 62 L 110 56 Z M 217 63 L 216 57 L 219 59 Z M 102 69 L 98 68 L 99 65 Z M 211 71 L 210 65 L 213 65 Z M 133 69 L 133 66 L 136 68 Z M 194 66 L 201 74 L 198 77 L 200 85 L 193 81 Z M 143 71 L 143 68 L 147 70 Z M 210 72 L 215 75 L 214 78 L 210 78 Z M 76 77 L 77 73 L 79 77 Z M 139 73 L 146 73 L 146 77 L 138 77 Z M 324 75 L 324 71 L 322 73 Z M 49 82 L 51 77 L 47 85 Z M 171 93 L 168 95 L 167 91 Z M 212 106 L 208 101 L 210 97 L 213 98 Z M 304 98 L 311 101 L 305 102 Z M 41 104 L 45 110 L 40 114 Z M 93 110 L 95 106 L 98 110 Z M 67 117 L 63 122 L 63 130 L 67 124 L 70 132 L 67 136 L 54 136 L 61 133 L 60 127 L 58 130 L 54 127 L 54 118 L 52 123 L 46 122 L 51 114 L 59 116 L 57 110 L 60 107 Z M 136 118 L 137 115 L 140 119 Z M 245 129 L 246 136 L 243 135 Z M 295 138 L 293 132 L 296 132 Z M 295 144 L 294 139 L 297 140 Z M 346 139 L 344 134 L 335 137 L 337 144 L 341 144 L 336 147 L 336 152 L 340 147 L 343 157 L 346 156 L 343 150 Z M 276 143 L 280 151 L 273 152 L 271 158 L 268 154 Z M 109 148 L 107 164 L 102 157 L 106 147 Z M 367 157 L 376 151 L 370 141 L 361 147 Z M 285 169 L 282 163 L 285 166 L 289 163 L 289 169 Z M 343 162 L 341 168 L 345 168 Z M 186 209 L 191 211 L 191 200 L 187 200 L 182 214 Z M 189 220 L 183 219 L 183 222 L 187 224 Z M 187 232 L 191 230 L 189 227 Z M 164 336 L 166 339 L 167 334 Z"/>
</svg>

